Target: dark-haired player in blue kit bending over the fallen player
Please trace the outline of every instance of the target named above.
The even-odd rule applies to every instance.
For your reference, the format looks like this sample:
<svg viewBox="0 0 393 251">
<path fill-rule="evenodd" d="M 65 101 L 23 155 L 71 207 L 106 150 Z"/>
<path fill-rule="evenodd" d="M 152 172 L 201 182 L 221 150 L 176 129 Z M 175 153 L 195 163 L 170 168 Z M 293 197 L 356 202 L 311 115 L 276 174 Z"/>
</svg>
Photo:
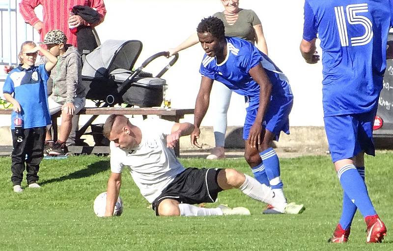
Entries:
<svg viewBox="0 0 393 251">
<path fill-rule="evenodd" d="M 286 203 L 280 178 L 280 162 L 271 147 L 280 132 L 289 134 L 289 113 L 293 95 L 282 71 L 253 44 L 236 37 L 225 37 L 224 24 L 216 17 L 202 19 L 197 34 L 206 52 L 200 65 L 202 74 L 195 104 L 195 129 L 191 142 L 197 147 L 200 123 L 209 107 L 213 80 L 223 83 L 233 92 L 248 99 L 243 139 L 244 157 L 256 180 L 270 186 L 276 196 Z M 303 212 L 301 205 L 299 213 Z M 276 208 L 264 213 L 280 214 Z"/>
</svg>

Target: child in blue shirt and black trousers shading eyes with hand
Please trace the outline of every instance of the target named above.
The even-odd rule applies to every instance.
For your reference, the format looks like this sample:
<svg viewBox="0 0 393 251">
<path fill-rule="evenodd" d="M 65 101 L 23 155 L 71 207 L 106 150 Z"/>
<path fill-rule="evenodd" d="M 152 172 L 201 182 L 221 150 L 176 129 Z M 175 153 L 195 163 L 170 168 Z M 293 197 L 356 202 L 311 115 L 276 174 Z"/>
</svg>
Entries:
<svg viewBox="0 0 393 251">
<path fill-rule="evenodd" d="M 34 66 L 38 51 L 48 58 L 48 62 Z M 39 188 L 39 164 L 43 158 L 46 126 L 51 124 L 48 109 L 47 81 L 49 71 L 57 63 L 57 58 L 49 51 L 36 46 L 32 41 L 26 41 L 21 46 L 18 55 L 21 64 L 8 74 L 3 94 L 5 99 L 13 104 L 11 114 L 12 155 L 11 181 L 15 192 L 22 192 L 21 182 L 25 162 L 28 187 Z M 22 133 L 15 134 L 14 119 L 19 114 L 24 123 Z"/>
</svg>

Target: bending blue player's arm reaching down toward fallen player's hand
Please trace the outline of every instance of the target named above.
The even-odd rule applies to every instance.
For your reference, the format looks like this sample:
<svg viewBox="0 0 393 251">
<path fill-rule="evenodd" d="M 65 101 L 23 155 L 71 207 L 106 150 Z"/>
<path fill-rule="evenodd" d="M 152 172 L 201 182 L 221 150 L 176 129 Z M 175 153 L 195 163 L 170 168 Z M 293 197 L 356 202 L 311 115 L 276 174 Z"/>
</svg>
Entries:
<svg viewBox="0 0 393 251">
<path fill-rule="evenodd" d="M 197 101 L 195 102 L 194 110 L 194 131 L 191 133 L 191 144 L 198 148 L 202 148 L 197 142 L 200 134 L 200 123 L 205 117 L 207 109 L 209 108 L 210 92 L 212 91 L 213 79 L 202 76 L 200 81 L 199 92 L 197 95 Z"/>
</svg>

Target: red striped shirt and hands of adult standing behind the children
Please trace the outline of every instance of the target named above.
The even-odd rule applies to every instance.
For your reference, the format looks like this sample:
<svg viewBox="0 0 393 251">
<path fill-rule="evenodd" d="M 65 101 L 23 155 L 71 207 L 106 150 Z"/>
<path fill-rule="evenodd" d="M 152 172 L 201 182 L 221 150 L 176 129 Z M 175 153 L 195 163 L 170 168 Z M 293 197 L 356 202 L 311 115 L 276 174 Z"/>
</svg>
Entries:
<svg viewBox="0 0 393 251">
<path fill-rule="evenodd" d="M 44 21 L 38 19 L 34 8 L 38 5 L 43 7 Z M 30 24 L 40 33 L 40 41 L 43 41 L 44 35 L 48 31 L 60 30 L 67 36 L 67 43 L 78 47 L 77 36 L 68 28 L 69 25 L 78 27 L 80 25 L 89 25 L 78 15 L 70 16 L 70 8 L 75 5 L 89 6 L 100 14 L 100 21 L 93 24 L 97 26 L 104 21 L 107 10 L 105 9 L 104 0 L 22 0 L 19 3 L 19 10 L 26 23 Z"/>
</svg>

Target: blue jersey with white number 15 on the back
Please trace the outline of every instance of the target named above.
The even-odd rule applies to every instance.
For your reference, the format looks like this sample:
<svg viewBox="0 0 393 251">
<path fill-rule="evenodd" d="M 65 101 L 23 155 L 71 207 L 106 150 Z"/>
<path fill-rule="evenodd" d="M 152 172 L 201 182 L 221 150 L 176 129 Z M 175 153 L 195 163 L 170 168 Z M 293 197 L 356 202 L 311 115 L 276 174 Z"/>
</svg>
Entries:
<svg viewBox="0 0 393 251">
<path fill-rule="evenodd" d="M 325 117 L 378 104 L 393 0 L 306 0 L 303 38 L 321 40 Z"/>
</svg>

